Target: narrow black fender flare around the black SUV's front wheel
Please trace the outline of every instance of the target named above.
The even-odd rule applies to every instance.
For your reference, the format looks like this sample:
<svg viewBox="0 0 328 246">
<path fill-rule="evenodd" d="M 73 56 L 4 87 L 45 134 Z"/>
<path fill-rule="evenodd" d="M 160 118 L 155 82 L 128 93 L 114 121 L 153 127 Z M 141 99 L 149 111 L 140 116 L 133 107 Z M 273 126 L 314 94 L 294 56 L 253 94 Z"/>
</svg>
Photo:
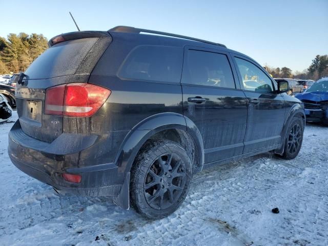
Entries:
<svg viewBox="0 0 328 246">
<path fill-rule="evenodd" d="M 300 104 L 294 104 L 292 106 L 292 108 L 290 109 L 290 111 L 288 112 L 285 121 L 283 123 L 283 127 L 282 127 L 282 131 L 281 131 L 281 147 L 277 150 L 275 150 L 276 154 L 282 155 L 283 154 L 283 150 L 285 147 L 285 137 L 289 128 L 289 125 L 291 124 L 292 119 L 294 118 L 295 115 L 300 115 L 303 119 L 303 124 L 305 127 L 305 113 L 304 113 L 304 106 L 300 105 Z"/>
</svg>

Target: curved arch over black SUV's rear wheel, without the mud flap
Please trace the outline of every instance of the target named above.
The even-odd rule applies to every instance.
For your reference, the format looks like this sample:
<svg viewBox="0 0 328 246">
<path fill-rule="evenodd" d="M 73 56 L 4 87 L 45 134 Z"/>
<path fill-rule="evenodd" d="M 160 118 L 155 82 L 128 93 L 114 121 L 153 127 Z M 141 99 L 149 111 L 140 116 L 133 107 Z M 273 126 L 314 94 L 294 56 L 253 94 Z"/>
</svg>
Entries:
<svg viewBox="0 0 328 246">
<path fill-rule="evenodd" d="M 194 151 L 194 171 L 201 171 L 204 148 L 198 128 L 182 114 L 159 113 L 139 122 L 125 137 L 115 157 L 115 164 L 120 172 L 130 172 L 135 157 L 149 139 L 172 140 L 187 151 Z"/>
</svg>

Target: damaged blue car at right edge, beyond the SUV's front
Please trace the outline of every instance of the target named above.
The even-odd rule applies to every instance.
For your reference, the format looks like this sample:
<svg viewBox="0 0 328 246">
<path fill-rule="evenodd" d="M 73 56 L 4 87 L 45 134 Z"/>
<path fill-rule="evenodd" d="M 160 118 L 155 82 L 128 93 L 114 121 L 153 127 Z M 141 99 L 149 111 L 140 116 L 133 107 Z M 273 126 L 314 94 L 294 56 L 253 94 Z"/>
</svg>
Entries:
<svg viewBox="0 0 328 246">
<path fill-rule="evenodd" d="M 295 95 L 304 103 L 306 121 L 328 126 L 328 77 L 317 80 L 309 89 Z"/>
</svg>

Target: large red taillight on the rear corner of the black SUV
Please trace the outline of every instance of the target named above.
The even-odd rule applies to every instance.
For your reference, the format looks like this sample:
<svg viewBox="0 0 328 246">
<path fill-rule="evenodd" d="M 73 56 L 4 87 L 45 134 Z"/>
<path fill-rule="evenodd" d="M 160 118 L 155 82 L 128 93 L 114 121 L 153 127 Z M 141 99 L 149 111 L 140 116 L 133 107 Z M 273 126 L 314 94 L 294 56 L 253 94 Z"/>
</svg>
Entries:
<svg viewBox="0 0 328 246">
<path fill-rule="evenodd" d="M 107 100 L 111 91 L 91 84 L 72 83 L 47 89 L 45 114 L 89 117 Z"/>
</svg>

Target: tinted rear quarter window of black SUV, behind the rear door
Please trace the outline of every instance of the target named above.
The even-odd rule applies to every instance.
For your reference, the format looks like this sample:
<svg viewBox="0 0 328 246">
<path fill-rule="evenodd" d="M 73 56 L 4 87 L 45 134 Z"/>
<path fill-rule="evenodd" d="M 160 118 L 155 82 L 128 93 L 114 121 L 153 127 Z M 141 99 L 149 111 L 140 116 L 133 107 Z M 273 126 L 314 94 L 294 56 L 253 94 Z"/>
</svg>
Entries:
<svg viewBox="0 0 328 246">
<path fill-rule="evenodd" d="M 182 48 L 142 45 L 123 61 L 118 77 L 180 83 Z"/>
</svg>

